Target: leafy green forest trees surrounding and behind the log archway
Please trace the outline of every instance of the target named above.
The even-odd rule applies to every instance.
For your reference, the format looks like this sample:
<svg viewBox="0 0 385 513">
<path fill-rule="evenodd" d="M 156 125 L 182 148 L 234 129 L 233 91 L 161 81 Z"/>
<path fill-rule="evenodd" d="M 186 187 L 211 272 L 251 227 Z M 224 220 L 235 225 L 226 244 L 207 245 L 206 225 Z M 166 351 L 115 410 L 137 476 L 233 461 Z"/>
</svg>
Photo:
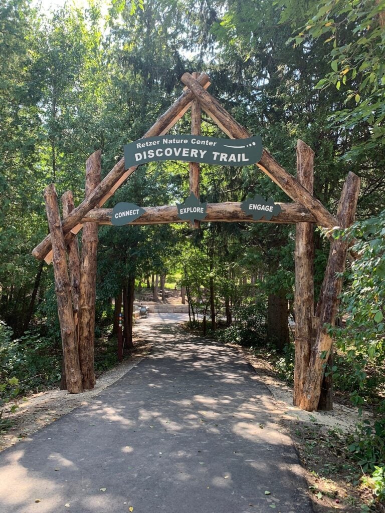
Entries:
<svg viewBox="0 0 385 513">
<path fill-rule="evenodd" d="M 102 8 L 103 7 L 103 8 Z M 370 448 L 352 448 L 365 471 L 382 469 L 385 421 L 385 1 L 114 0 L 52 12 L 24 0 L 0 6 L 0 393 L 3 401 L 60 380 L 60 328 L 52 266 L 31 250 L 47 234 L 42 191 L 84 198 L 85 161 L 102 150 L 102 175 L 182 90 L 185 71 L 207 72 L 210 92 L 295 174 L 296 141 L 315 151 L 315 196 L 336 211 L 349 171 L 361 178 L 358 259 L 348 266 L 343 323 L 334 330 L 341 397 L 371 408 Z M 103 14 L 102 14 L 103 13 Z M 189 133 L 185 117 L 173 133 Z M 202 133 L 223 136 L 203 116 Z M 255 193 L 287 201 L 251 167 L 202 166 L 201 201 Z M 188 165 L 141 166 L 106 205 L 182 202 Z M 224 308 L 224 341 L 275 354 L 290 380 L 294 234 L 288 225 L 203 224 L 99 229 L 99 337 L 113 334 L 111 299 L 133 300 L 152 274 Z M 315 290 L 329 252 L 315 237 Z M 210 291 L 205 297 L 201 288 Z M 213 303 L 214 302 L 214 303 Z M 115 319 L 116 320 L 116 319 Z M 208 324 L 211 334 L 215 322 Z M 114 363 L 106 353 L 99 367 Z M 363 437 L 361 437 L 362 439 Z M 374 443 L 373 440 L 376 442 Z M 365 452 L 366 451 L 366 452 Z"/>
</svg>

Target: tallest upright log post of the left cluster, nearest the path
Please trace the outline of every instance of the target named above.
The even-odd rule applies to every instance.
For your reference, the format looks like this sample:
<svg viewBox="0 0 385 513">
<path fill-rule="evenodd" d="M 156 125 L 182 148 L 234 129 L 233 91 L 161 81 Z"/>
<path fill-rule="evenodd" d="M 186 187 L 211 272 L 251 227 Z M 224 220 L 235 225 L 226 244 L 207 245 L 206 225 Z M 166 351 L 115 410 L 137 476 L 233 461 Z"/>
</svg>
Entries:
<svg viewBox="0 0 385 513">
<path fill-rule="evenodd" d="M 89 196 L 100 183 L 102 152 L 95 151 L 86 163 L 86 190 Z M 91 390 L 95 386 L 95 300 L 97 276 L 98 225 L 85 223 L 82 235 L 82 263 L 79 294 L 79 359 L 83 387 Z"/>
</svg>

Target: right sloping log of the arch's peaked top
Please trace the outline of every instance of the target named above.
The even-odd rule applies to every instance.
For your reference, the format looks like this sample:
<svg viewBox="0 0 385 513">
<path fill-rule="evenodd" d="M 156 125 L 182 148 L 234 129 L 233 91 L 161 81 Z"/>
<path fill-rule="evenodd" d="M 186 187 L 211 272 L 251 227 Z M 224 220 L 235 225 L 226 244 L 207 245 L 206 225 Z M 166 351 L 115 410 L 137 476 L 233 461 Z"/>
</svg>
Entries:
<svg viewBox="0 0 385 513">
<path fill-rule="evenodd" d="M 195 94 L 203 110 L 213 118 L 229 137 L 232 137 L 232 139 L 245 139 L 251 136 L 189 73 L 182 75 L 181 80 Z M 337 226 L 337 220 L 326 210 L 322 203 L 314 198 L 294 176 L 280 166 L 267 150 L 263 149 L 261 160 L 257 163 L 257 166 L 292 200 L 309 209 L 316 218 L 318 225 L 326 228 Z"/>
</svg>

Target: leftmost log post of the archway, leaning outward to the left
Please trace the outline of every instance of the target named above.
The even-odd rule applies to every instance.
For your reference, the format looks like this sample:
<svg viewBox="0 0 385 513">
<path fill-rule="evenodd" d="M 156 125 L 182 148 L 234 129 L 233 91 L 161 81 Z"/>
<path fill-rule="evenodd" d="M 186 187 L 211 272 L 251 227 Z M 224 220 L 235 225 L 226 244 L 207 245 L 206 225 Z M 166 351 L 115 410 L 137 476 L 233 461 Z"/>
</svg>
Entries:
<svg viewBox="0 0 385 513">
<path fill-rule="evenodd" d="M 66 247 L 60 221 L 59 205 L 54 184 L 44 189 L 44 200 L 52 240 L 53 274 L 62 334 L 63 359 L 66 371 L 67 389 L 70 393 L 83 391 L 80 372 L 78 344 L 73 319 L 71 287 L 68 278 Z"/>
</svg>

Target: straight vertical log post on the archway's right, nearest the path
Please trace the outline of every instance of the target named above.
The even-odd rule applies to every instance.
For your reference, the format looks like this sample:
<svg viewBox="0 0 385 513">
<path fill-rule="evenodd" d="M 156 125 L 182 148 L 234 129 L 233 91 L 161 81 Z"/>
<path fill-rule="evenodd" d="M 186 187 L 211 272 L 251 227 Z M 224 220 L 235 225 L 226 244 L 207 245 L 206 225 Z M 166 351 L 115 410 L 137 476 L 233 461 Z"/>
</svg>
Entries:
<svg viewBox="0 0 385 513">
<path fill-rule="evenodd" d="M 313 194 L 314 151 L 297 142 L 297 180 Z M 295 260 L 295 365 L 293 404 L 299 406 L 312 347 L 314 315 L 314 225 L 296 224 Z"/>
</svg>

